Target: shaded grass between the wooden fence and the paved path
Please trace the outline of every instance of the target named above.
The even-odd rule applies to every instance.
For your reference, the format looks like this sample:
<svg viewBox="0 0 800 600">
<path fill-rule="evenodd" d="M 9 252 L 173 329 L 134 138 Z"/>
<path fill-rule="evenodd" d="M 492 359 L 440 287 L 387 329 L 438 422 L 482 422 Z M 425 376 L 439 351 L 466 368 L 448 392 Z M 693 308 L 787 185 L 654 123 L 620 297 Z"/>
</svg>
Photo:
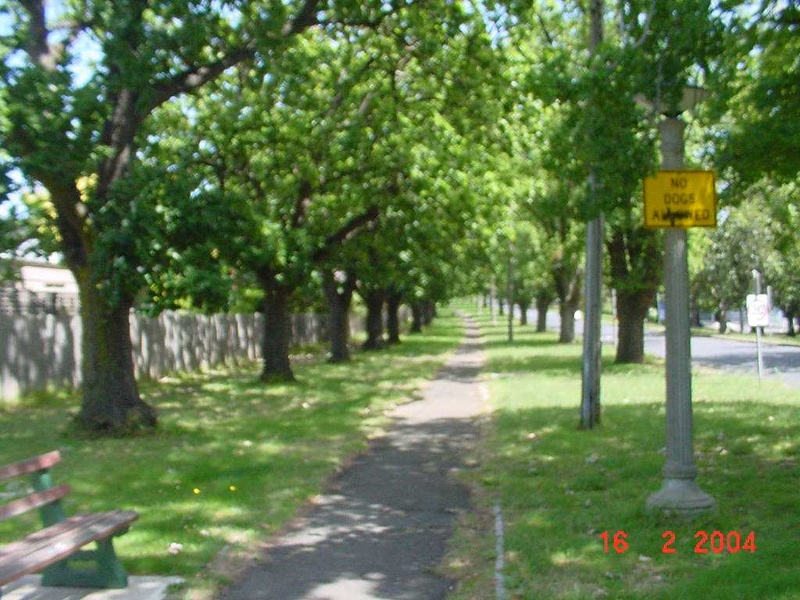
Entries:
<svg viewBox="0 0 800 600">
<path fill-rule="evenodd" d="M 180 575 L 187 597 L 210 597 L 379 434 L 384 411 L 435 374 L 462 336 L 460 319 L 442 313 L 424 334 L 349 364 L 298 357 L 295 384 L 264 385 L 257 365 L 144 383 L 160 413 L 151 436 L 69 438 L 77 397 L 40 395 L 0 410 L 0 464 L 60 449 L 53 476 L 73 486 L 68 514 L 137 510 L 116 543 L 129 571 Z M 0 542 L 21 534 L 20 521 L 2 524 Z"/>
</svg>

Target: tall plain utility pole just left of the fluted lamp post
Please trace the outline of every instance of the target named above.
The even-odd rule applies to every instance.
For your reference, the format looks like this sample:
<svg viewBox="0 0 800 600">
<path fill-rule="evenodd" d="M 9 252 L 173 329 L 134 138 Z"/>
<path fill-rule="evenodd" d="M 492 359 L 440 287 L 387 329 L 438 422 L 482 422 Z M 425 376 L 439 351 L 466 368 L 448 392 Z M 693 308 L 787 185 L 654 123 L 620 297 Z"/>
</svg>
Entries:
<svg viewBox="0 0 800 600">
<path fill-rule="evenodd" d="M 603 41 L 603 0 L 589 4 L 589 51 L 594 54 Z M 597 201 L 597 176 L 590 166 L 589 202 Z M 603 287 L 603 213 L 586 225 L 586 278 L 584 280 L 583 371 L 581 392 L 581 428 L 600 424 L 600 368 L 602 355 L 601 312 Z"/>
</svg>

